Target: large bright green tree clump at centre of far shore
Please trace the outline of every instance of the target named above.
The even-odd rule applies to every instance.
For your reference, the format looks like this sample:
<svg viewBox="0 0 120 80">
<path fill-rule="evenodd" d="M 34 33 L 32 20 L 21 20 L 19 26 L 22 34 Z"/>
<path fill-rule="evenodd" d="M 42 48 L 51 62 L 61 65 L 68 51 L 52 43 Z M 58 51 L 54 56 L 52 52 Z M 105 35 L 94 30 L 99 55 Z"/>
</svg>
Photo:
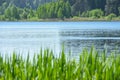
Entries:
<svg viewBox="0 0 120 80">
<path fill-rule="evenodd" d="M 71 16 L 71 8 L 69 2 L 53 2 L 41 5 L 37 9 L 38 18 L 69 18 Z"/>
</svg>

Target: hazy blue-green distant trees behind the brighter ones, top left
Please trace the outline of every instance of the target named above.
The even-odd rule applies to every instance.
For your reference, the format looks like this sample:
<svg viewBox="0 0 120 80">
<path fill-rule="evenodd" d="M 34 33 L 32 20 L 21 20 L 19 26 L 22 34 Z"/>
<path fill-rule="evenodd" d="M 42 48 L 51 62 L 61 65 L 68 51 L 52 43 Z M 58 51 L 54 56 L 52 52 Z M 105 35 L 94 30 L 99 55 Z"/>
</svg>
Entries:
<svg viewBox="0 0 120 80">
<path fill-rule="evenodd" d="M 15 5 L 19 8 L 36 9 L 39 5 L 52 1 L 56 0 L 0 0 L 0 6 L 4 3 L 7 3 L 7 5 Z"/>
</svg>

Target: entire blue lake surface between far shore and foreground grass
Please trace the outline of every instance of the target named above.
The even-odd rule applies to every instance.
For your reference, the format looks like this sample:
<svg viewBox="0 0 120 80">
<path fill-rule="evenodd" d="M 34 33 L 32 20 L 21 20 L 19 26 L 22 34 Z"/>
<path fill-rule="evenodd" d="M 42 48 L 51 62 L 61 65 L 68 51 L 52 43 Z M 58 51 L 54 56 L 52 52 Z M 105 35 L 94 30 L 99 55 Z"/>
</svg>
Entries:
<svg viewBox="0 0 120 80">
<path fill-rule="evenodd" d="M 120 22 L 0 22 L 0 52 L 26 57 L 50 48 L 55 54 L 64 44 L 75 58 L 83 48 L 120 50 Z"/>
</svg>

